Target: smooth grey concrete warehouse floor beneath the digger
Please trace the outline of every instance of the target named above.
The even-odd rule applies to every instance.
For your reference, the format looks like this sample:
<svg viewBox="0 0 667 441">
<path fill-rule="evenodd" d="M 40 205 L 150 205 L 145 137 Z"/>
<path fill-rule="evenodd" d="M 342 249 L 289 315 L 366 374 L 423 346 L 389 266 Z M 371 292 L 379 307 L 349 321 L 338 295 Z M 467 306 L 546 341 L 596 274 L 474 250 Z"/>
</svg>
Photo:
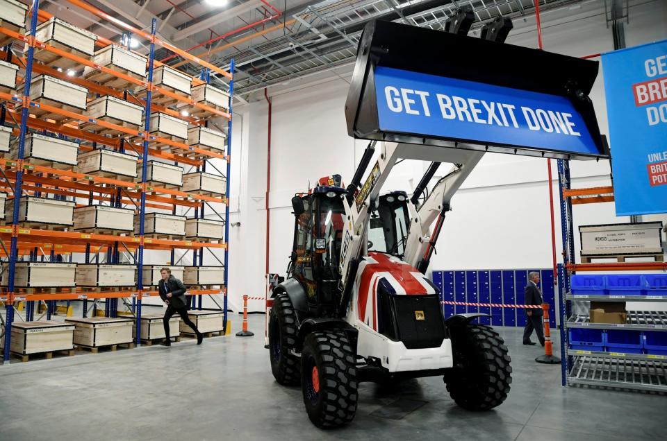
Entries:
<svg viewBox="0 0 667 441">
<path fill-rule="evenodd" d="M 500 329 L 514 373 L 499 408 L 458 408 L 440 378 L 362 383 L 354 422 L 320 431 L 308 421 L 301 390 L 274 381 L 263 320 L 251 316 L 252 338 L 3 365 L 0 440 L 666 439 L 667 397 L 562 388 L 560 367 L 534 363 L 541 347 L 522 345 L 515 328 Z M 239 325 L 233 317 L 234 331 Z M 415 410 L 395 419 L 400 409 Z"/>
</svg>

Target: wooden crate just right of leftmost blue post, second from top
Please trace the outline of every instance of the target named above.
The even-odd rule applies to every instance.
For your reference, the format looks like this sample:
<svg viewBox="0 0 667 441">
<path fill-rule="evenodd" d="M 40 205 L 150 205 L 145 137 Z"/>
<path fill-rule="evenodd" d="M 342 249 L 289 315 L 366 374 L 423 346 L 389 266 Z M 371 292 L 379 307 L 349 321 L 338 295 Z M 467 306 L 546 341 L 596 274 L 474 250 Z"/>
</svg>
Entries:
<svg viewBox="0 0 667 441">
<path fill-rule="evenodd" d="M 36 76 L 30 82 L 30 99 L 38 103 L 46 103 L 64 109 L 85 110 L 85 98 L 88 89 L 67 83 L 67 81 L 48 75 Z M 53 115 L 53 119 L 66 119 L 66 116 Z"/>
</svg>

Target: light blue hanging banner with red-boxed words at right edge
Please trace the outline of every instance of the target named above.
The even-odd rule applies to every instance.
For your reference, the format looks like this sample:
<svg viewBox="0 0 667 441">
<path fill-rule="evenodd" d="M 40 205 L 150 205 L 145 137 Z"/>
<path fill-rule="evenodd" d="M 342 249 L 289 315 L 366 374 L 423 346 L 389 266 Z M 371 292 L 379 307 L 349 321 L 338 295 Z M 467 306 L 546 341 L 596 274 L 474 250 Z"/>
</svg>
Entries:
<svg viewBox="0 0 667 441">
<path fill-rule="evenodd" d="M 667 213 L 667 40 L 602 54 L 616 216 Z"/>
</svg>

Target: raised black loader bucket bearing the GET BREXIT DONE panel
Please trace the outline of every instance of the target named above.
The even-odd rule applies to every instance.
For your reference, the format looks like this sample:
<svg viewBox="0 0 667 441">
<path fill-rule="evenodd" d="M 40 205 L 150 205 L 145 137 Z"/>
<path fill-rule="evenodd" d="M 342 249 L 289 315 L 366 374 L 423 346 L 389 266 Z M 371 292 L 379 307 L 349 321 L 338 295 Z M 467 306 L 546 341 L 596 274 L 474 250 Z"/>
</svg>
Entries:
<svg viewBox="0 0 667 441">
<path fill-rule="evenodd" d="M 359 139 L 608 158 L 588 98 L 597 76 L 595 61 L 371 21 L 347 95 L 347 131 Z"/>
</svg>

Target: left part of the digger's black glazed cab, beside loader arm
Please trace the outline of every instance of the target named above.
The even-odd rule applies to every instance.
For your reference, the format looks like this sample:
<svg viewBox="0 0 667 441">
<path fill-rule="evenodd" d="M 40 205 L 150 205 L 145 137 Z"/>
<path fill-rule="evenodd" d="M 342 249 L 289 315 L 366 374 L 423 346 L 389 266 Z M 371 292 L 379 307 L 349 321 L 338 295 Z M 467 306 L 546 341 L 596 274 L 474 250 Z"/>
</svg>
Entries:
<svg viewBox="0 0 667 441">
<path fill-rule="evenodd" d="M 295 214 L 290 272 L 306 291 L 308 311 L 333 313 L 340 299 L 338 264 L 343 244 L 345 189 L 340 175 L 320 180 L 292 199 Z"/>
</svg>

